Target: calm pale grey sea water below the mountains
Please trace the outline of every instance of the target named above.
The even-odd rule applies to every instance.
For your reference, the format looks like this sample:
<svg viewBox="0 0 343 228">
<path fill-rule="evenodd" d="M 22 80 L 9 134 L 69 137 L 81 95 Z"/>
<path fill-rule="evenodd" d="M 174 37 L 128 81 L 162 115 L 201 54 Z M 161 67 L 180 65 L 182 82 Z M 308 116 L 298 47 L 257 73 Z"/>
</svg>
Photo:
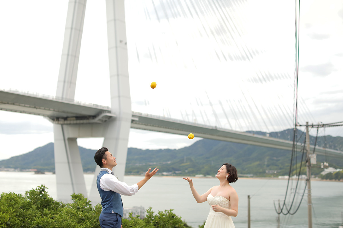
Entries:
<svg viewBox="0 0 343 228">
<path fill-rule="evenodd" d="M 93 174 L 84 174 L 87 192 L 90 191 Z M 125 176 L 124 181 L 132 185 L 139 182 L 143 176 Z M 48 194 L 57 198 L 56 175 L 52 173 L 34 174 L 33 172 L 0 172 L 0 192 L 15 192 L 25 194 L 44 184 Z M 202 194 L 214 185 L 218 185 L 217 178 L 193 178 L 194 187 Z M 250 196 L 250 223 L 252 228 L 277 227 L 278 201 L 285 199 L 287 188 L 285 179 L 264 178 L 239 178 L 231 185 L 236 189 L 239 197 L 238 215 L 233 217 L 236 228 L 248 227 L 248 196 Z M 294 213 L 299 205 L 305 188 L 305 181 L 298 184 L 297 192 L 294 191 L 296 182 L 289 182 L 286 202 L 289 206 L 295 195 L 291 209 Z M 329 182 L 312 180 L 312 224 L 313 227 L 338 227 L 342 225 L 341 214 L 343 211 L 343 182 Z M 210 207 L 207 202 L 197 203 L 190 191 L 189 184 L 181 177 L 152 177 L 134 196 L 123 196 L 125 208 L 143 206 L 145 209 L 152 207 L 154 212 L 173 209 L 173 212 L 194 228 L 202 225 L 206 220 Z M 285 208 L 285 207 L 284 207 Z M 283 211 L 286 213 L 287 211 Z M 280 227 L 308 227 L 307 190 L 299 209 L 294 215 L 280 215 Z"/>
</svg>

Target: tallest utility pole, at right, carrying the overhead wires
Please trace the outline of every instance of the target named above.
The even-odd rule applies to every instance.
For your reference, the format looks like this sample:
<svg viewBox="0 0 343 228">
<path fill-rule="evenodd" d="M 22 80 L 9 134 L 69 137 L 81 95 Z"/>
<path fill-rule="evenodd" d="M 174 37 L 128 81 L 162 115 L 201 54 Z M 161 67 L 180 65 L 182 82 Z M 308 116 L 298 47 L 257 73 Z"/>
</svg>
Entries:
<svg viewBox="0 0 343 228">
<path fill-rule="evenodd" d="M 308 228 L 312 228 L 312 199 L 311 199 L 311 158 L 310 158 L 310 135 L 308 132 L 308 122 L 306 122 L 306 157 L 307 157 L 307 211 Z"/>
</svg>

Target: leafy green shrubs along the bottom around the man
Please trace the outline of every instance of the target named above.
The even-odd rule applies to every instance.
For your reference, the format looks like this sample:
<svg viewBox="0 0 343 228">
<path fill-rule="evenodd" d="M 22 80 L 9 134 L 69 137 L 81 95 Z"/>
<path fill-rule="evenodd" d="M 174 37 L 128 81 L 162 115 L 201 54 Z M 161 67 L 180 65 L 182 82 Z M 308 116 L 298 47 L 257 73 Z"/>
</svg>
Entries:
<svg viewBox="0 0 343 228">
<path fill-rule="evenodd" d="M 72 203 L 52 199 L 44 185 L 25 192 L 25 196 L 14 192 L 0 195 L 0 228 L 100 228 L 101 204 L 91 205 L 82 194 L 71 195 Z M 130 213 L 122 219 L 124 228 L 189 228 L 173 210 L 146 210 L 140 219 Z M 200 227 L 200 226 L 199 226 Z"/>
</svg>

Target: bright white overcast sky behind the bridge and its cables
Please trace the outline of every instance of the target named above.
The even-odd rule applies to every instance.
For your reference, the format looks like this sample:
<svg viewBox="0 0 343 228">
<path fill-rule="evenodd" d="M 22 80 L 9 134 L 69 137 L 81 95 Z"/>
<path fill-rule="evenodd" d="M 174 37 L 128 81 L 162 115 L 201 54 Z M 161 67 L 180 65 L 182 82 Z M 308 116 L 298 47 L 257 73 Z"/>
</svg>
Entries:
<svg viewBox="0 0 343 228">
<path fill-rule="evenodd" d="M 172 2 L 154 1 L 154 8 L 152 1 L 126 1 L 132 110 L 237 131 L 292 128 L 294 2 L 211 8 L 202 1 L 206 10 L 189 12 L 189 1 L 166 8 Z M 300 4 L 299 123 L 343 121 L 343 2 Z M 0 89 L 56 95 L 67 7 L 68 1 L 0 1 Z M 75 100 L 110 106 L 105 1 L 87 1 Z M 343 136 L 343 128 L 324 133 Z M 43 117 L 0 111 L 0 159 L 53 137 Z M 131 129 L 129 147 L 181 148 L 199 139 Z M 102 147 L 102 139 L 78 143 Z"/>
</svg>

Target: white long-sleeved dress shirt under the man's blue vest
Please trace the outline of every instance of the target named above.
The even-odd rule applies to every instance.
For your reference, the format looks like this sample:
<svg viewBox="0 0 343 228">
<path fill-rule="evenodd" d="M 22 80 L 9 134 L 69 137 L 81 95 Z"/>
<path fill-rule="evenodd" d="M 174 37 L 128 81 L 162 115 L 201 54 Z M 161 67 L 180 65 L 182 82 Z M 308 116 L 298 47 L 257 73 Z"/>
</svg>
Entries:
<svg viewBox="0 0 343 228">
<path fill-rule="evenodd" d="M 100 188 L 104 191 L 114 191 L 119 193 L 120 195 L 123 196 L 133 196 L 138 192 L 138 185 L 134 184 L 129 186 L 128 184 L 121 182 L 115 177 L 114 175 L 110 174 L 112 171 L 108 168 L 101 168 L 102 170 L 106 169 L 108 172 L 105 173 L 101 178 L 100 178 Z"/>
</svg>

